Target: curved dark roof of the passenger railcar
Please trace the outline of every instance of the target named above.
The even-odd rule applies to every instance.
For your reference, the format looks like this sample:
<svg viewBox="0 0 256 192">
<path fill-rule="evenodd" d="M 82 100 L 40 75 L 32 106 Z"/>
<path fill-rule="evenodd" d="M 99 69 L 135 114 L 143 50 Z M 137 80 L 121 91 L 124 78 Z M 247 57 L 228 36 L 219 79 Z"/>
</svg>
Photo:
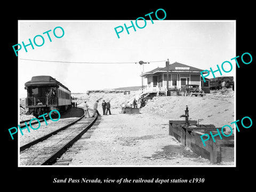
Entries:
<svg viewBox="0 0 256 192">
<path fill-rule="evenodd" d="M 31 81 L 28 81 L 28 82 L 25 83 L 25 86 L 56 85 L 56 84 L 64 87 L 68 91 L 70 91 L 68 89 L 68 87 L 66 87 L 65 85 L 62 85 L 55 78 L 53 78 L 51 76 L 45 76 L 45 75 L 32 77 Z"/>
</svg>

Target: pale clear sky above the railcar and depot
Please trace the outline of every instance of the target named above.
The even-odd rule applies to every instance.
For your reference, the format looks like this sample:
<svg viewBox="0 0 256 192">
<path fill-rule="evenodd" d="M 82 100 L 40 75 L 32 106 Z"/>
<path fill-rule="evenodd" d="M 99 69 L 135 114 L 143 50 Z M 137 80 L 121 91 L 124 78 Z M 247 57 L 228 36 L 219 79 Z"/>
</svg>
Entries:
<svg viewBox="0 0 256 192">
<path fill-rule="evenodd" d="M 130 20 L 20 20 L 17 44 L 29 44 L 29 38 L 33 42 L 36 35 L 42 35 L 45 42 L 42 46 L 33 42 L 34 50 L 29 45 L 27 52 L 24 47 L 18 51 L 19 97 L 26 97 L 24 84 L 37 75 L 50 75 L 73 93 L 140 86 L 142 66 L 135 62 L 141 60 L 150 62 L 144 72 L 165 67 L 167 59 L 170 64 L 180 62 L 202 70 L 217 69 L 230 61 L 233 70 L 222 75 L 235 76 L 235 61 L 230 60 L 236 57 L 233 20 L 154 20 L 154 24 L 147 20 L 145 28 L 129 28 L 130 34 L 124 28 L 118 38 L 114 28 L 124 23 L 131 26 Z M 143 26 L 143 20 L 138 25 Z M 63 28 L 63 37 L 53 35 L 55 27 Z M 52 42 L 43 34 L 49 30 Z M 55 33 L 62 35 L 59 28 Z M 42 39 L 36 37 L 36 43 L 42 44 Z"/>
</svg>

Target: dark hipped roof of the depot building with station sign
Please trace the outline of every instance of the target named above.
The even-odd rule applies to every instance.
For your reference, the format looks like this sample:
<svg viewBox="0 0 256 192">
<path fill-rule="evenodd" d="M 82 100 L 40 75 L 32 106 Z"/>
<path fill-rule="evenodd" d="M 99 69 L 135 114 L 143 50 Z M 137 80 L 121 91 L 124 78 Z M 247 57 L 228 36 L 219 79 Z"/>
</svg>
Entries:
<svg viewBox="0 0 256 192">
<path fill-rule="evenodd" d="M 179 62 L 174 62 L 174 63 L 169 65 L 169 72 L 174 72 L 174 73 L 177 73 L 177 72 L 200 73 L 201 71 L 203 71 L 203 70 L 195 68 L 195 67 L 191 67 L 191 66 L 179 63 Z M 158 74 L 158 73 L 167 73 L 167 66 L 166 67 L 157 67 L 157 68 L 155 68 L 151 71 L 143 73 L 140 76 L 141 77 L 147 77 L 147 76 Z"/>
</svg>

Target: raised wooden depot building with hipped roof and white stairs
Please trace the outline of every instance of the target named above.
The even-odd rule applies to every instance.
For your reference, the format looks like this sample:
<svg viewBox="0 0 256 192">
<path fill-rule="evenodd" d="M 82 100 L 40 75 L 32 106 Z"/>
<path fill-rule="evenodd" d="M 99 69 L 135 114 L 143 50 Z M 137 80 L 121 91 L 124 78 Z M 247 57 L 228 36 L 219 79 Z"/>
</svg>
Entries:
<svg viewBox="0 0 256 192">
<path fill-rule="evenodd" d="M 187 84 L 197 84 L 199 89 L 205 93 L 210 93 L 209 79 L 201 77 L 198 69 L 192 66 L 184 65 L 179 62 L 174 62 L 169 65 L 169 91 L 171 95 L 177 95 L 179 90 L 185 89 Z M 140 75 L 142 78 L 147 78 L 147 86 L 140 89 L 140 94 L 155 93 L 156 95 L 167 95 L 167 66 L 157 67 L 151 71 Z"/>
</svg>

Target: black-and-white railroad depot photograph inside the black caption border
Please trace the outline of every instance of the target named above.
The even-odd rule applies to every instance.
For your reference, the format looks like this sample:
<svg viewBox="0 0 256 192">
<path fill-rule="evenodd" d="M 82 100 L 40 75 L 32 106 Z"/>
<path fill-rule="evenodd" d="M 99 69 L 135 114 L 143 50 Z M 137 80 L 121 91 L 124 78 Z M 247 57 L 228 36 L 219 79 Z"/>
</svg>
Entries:
<svg viewBox="0 0 256 192">
<path fill-rule="evenodd" d="M 145 21 L 19 21 L 20 166 L 235 165 L 236 22 Z"/>
</svg>

